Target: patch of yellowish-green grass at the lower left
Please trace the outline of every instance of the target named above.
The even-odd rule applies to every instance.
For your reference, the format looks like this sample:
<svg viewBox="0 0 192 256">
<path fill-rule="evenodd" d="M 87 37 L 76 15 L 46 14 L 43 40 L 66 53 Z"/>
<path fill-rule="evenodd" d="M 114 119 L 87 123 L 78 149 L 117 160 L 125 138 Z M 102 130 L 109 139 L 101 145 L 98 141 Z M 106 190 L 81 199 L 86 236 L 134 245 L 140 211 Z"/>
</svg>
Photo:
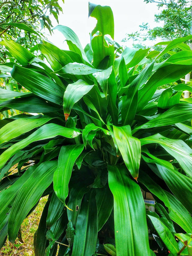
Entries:
<svg viewBox="0 0 192 256">
<path fill-rule="evenodd" d="M 41 198 L 35 210 L 23 221 L 21 232 L 24 243 L 20 243 L 18 238 L 15 241 L 15 245 L 6 241 L 5 245 L 0 249 L 0 256 L 35 256 L 33 236 L 38 228 L 40 216 L 47 199 L 48 197 Z"/>
</svg>

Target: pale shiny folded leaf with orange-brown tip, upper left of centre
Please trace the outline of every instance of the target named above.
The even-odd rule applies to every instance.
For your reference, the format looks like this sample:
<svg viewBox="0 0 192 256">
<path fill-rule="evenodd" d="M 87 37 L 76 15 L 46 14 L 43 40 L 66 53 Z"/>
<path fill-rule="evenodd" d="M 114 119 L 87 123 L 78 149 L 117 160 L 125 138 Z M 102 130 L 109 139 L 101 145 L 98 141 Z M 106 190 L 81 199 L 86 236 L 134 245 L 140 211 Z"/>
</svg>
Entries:
<svg viewBox="0 0 192 256">
<path fill-rule="evenodd" d="M 63 111 L 66 120 L 68 119 L 73 105 L 87 94 L 93 86 L 94 85 L 89 85 L 81 79 L 73 84 L 68 84 L 63 96 Z"/>
</svg>

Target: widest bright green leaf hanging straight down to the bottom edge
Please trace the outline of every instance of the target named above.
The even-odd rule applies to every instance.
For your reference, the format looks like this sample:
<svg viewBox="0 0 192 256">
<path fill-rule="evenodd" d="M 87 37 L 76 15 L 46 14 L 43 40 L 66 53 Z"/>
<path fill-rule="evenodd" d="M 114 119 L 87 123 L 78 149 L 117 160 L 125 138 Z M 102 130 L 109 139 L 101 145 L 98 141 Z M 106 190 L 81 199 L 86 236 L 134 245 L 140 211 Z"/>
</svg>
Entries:
<svg viewBox="0 0 192 256">
<path fill-rule="evenodd" d="M 145 205 L 139 185 L 127 176 L 124 166 L 108 166 L 108 170 L 109 188 L 114 195 L 116 254 L 150 255 Z"/>
</svg>

